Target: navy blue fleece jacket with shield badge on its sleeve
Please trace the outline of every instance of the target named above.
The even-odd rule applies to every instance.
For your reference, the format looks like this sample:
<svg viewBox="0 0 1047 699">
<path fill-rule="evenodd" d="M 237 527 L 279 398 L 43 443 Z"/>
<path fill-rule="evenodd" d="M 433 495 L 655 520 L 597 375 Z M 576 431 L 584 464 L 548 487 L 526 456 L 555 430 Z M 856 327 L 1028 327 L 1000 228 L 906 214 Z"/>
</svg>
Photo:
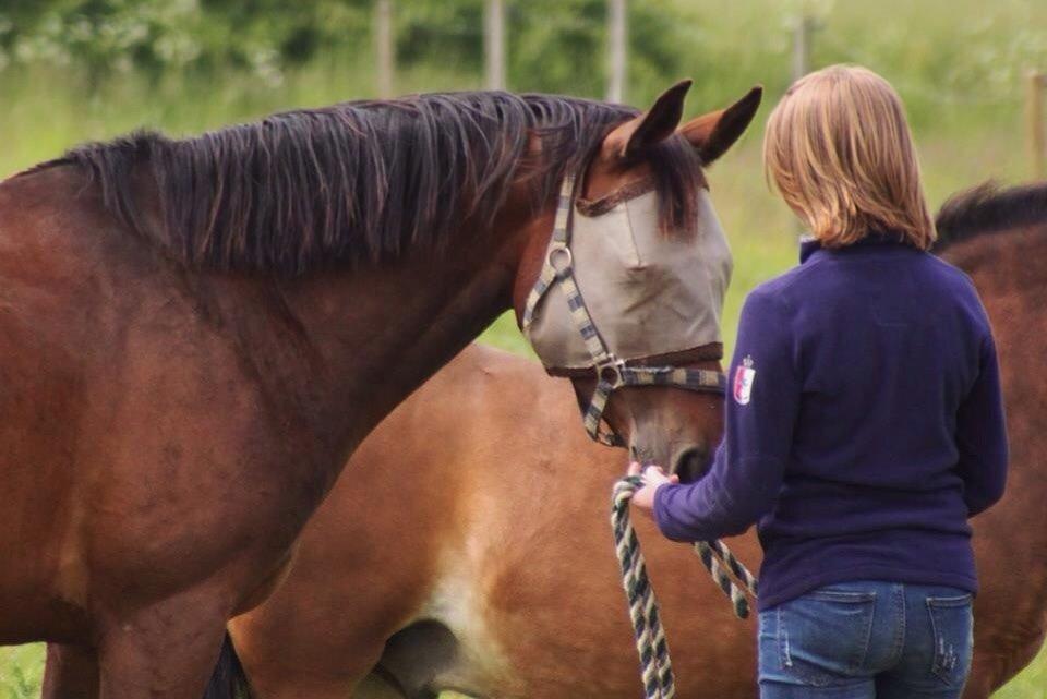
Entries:
<svg viewBox="0 0 1047 699">
<path fill-rule="evenodd" d="M 1007 435 L 970 279 L 872 234 L 757 287 L 709 473 L 654 498 L 670 539 L 758 522 L 761 610 L 876 579 L 977 591 L 967 518 L 1003 493 Z"/>
</svg>

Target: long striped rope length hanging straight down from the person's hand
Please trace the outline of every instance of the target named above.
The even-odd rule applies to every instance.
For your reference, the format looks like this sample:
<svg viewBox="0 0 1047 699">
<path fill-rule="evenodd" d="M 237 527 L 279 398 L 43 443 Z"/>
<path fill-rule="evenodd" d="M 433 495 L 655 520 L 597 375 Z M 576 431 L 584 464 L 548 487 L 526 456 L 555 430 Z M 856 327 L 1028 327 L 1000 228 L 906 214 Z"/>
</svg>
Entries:
<svg viewBox="0 0 1047 699">
<path fill-rule="evenodd" d="M 639 477 L 627 477 L 615 483 L 611 505 L 614 549 L 622 566 L 622 583 L 629 604 L 629 618 L 636 635 L 636 652 L 640 656 L 640 677 L 646 699 L 672 699 L 676 694 L 669 644 L 662 629 L 654 591 L 647 576 L 640 553 L 640 541 L 629 519 L 629 499 L 642 485 Z"/>
</svg>

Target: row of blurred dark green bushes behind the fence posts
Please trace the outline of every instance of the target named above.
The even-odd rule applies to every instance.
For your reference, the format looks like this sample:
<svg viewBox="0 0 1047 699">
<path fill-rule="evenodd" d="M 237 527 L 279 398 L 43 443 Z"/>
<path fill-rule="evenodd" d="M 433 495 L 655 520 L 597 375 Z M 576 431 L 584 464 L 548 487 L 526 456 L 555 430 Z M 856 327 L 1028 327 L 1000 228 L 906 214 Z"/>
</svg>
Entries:
<svg viewBox="0 0 1047 699">
<path fill-rule="evenodd" d="M 508 4 L 510 84 L 602 92 L 605 0 Z M 631 59 L 640 72 L 674 73 L 674 24 L 636 2 Z M 397 62 L 438 61 L 482 73 L 483 0 L 395 3 Z M 91 80 L 132 70 L 245 70 L 278 80 L 318 56 L 357 55 L 370 67 L 372 0 L 3 0 L 0 69 L 50 63 Z"/>
</svg>

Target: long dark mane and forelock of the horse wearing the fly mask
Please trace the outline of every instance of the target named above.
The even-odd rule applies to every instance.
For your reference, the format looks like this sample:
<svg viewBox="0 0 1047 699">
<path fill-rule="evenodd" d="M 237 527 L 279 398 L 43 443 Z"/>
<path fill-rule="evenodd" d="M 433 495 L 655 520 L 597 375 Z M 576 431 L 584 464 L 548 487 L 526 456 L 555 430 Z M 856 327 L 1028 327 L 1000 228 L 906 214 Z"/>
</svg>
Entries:
<svg viewBox="0 0 1047 699">
<path fill-rule="evenodd" d="M 432 94 L 289 111 L 184 140 L 140 132 L 61 161 L 87 169 L 124 225 L 188 265 L 293 275 L 446 249 L 464 221 L 490 225 L 521 178 L 535 205 L 549 202 L 565 171 L 636 113 L 549 95 Z M 697 156 L 674 136 L 650 159 L 663 227 L 688 229 L 703 184 Z M 158 226 L 136 206 L 143 174 L 155 181 Z"/>
</svg>

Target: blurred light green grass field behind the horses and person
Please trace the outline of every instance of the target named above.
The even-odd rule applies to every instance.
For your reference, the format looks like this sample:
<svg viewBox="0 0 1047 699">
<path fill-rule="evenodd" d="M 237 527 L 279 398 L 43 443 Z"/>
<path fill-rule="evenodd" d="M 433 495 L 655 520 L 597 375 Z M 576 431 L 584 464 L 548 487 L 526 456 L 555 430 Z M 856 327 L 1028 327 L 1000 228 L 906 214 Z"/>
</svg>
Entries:
<svg viewBox="0 0 1047 699">
<path fill-rule="evenodd" d="M 652 0 L 653 1 L 653 0 Z M 661 1 L 661 0 L 660 0 Z M 787 75 L 789 12 L 798 2 L 751 0 L 723 13 L 714 0 L 664 0 L 677 12 L 687 61 L 697 79 L 689 115 L 718 108 L 765 82 L 769 103 Z M 925 184 L 932 205 L 986 179 L 1004 183 L 1027 177 L 1021 130 L 1021 67 L 1047 69 L 1047 3 L 999 0 L 881 0 L 815 2 L 820 15 L 813 58 L 817 64 L 861 61 L 894 81 L 908 103 Z M 955 17 L 962 17 L 962 21 Z M 913 32 L 919 27 L 919 32 Z M 1040 27 L 1038 32 L 1033 27 Z M 83 140 L 145 125 L 192 133 L 281 108 L 364 96 L 373 81 L 366 62 L 354 70 L 338 60 L 285 75 L 278 86 L 234 79 L 167 76 L 146 82 L 127 76 L 88 91 L 75 76 L 47 68 L 0 72 L 0 176 L 53 157 Z M 433 62 L 432 65 L 438 65 Z M 479 76 L 454 65 L 412 69 L 398 75 L 402 92 L 469 88 Z M 633 76 L 633 97 L 642 104 L 667 79 Z M 537 84 L 514 85 L 520 89 Z M 710 172 L 713 201 L 727 230 L 735 273 L 726 302 L 724 336 L 730 345 L 741 301 L 754 285 L 794 263 L 796 225 L 768 191 L 759 143 L 769 107 L 758 124 Z M 509 316 L 482 337 L 529 352 Z M 3 565 L 12 565 L 4 562 Z M 670 629 L 670 634 L 671 634 Z M 38 696 L 40 646 L 0 649 L 0 699 Z M 1047 654 L 997 697 L 1047 699 Z"/>
</svg>

